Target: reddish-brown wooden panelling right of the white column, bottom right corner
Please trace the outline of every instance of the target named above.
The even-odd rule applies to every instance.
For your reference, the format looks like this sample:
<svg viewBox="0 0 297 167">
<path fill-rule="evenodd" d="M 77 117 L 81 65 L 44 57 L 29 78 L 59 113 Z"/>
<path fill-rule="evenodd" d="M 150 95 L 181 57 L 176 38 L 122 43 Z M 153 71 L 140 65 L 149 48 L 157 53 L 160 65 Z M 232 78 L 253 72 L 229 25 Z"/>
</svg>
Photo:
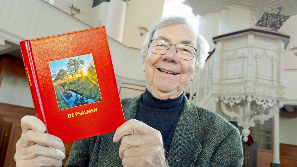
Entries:
<svg viewBox="0 0 297 167">
<path fill-rule="evenodd" d="M 280 164 L 286 167 L 297 166 L 297 145 L 279 144 Z"/>
</svg>

